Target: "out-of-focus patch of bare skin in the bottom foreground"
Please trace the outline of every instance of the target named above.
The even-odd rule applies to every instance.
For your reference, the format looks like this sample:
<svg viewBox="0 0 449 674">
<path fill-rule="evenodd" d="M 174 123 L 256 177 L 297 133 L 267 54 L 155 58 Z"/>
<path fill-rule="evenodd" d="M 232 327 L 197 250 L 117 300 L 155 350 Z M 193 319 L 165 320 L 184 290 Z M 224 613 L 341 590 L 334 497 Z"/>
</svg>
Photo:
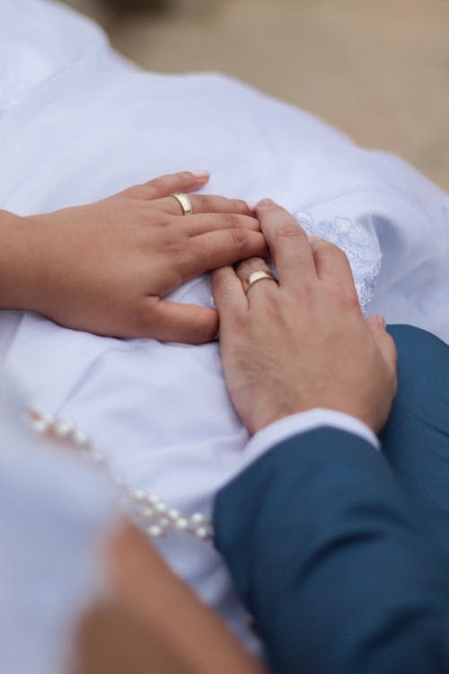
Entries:
<svg viewBox="0 0 449 674">
<path fill-rule="evenodd" d="M 104 565 L 109 593 L 79 625 L 71 674 L 264 674 L 134 525 L 117 529 Z"/>
</svg>

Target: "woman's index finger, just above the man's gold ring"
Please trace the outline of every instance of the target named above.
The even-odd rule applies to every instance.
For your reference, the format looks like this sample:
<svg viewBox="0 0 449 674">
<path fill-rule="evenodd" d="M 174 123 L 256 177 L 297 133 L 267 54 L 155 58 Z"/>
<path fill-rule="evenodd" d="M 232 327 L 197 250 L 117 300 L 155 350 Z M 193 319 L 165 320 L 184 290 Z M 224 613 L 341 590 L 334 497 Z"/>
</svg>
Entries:
<svg viewBox="0 0 449 674">
<path fill-rule="evenodd" d="M 267 255 L 264 235 L 249 229 L 222 229 L 189 239 L 188 253 L 183 262 L 184 272 L 197 276 L 205 271 L 226 267 L 238 260 Z"/>
</svg>

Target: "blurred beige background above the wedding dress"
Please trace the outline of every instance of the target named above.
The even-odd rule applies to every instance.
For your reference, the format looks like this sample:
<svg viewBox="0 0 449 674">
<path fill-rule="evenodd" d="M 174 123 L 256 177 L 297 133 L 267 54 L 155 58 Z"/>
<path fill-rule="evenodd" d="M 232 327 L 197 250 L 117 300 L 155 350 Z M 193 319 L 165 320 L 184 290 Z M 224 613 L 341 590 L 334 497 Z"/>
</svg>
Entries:
<svg viewBox="0 0 449 674">
<path fill-rule="evenodd" d="M 238 77 L 449 191 L 449 0 L 66 1 L 147 69 Z"/>
</svg>

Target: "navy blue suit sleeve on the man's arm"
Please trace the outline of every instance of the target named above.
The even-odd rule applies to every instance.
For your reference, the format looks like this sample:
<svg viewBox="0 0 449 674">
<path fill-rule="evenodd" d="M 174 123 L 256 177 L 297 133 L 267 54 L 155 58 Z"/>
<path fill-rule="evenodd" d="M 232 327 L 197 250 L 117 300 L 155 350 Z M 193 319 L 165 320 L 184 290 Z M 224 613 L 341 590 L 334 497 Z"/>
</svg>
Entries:
<svg viewBox="0 0 449 674">
<path fill-rule="evenodd" d="M 447 564 L 369 442 L 280 443 L 218 493 L 215 526 L 274 672 L 449 672 Z"/>
</svg>

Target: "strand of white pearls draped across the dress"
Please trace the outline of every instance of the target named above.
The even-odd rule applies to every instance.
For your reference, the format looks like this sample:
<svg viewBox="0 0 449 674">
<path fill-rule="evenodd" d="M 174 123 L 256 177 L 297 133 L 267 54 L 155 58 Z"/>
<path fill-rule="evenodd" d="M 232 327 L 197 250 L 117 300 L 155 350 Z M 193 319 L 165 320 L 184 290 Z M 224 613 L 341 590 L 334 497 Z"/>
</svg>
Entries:
<svg viewBox="0 0 449 674">
<path fill-rule="evenodd" d="M 183 517 L 178 510 L 169 508 L 157 494 L 131 487 L 121 477 L 112 474 L 106 457 L 92 447 L 87 433 L 77 429 L 73 421 L 57 420 L 52 414 L 42 414 L 35 410 L 28 412 L 27 421 L 35 433 L 64 442 L 76 451 L 81 450 L 92 461 L 101 465 L 118 489 L 120 499 L 124 501 L 131 519 L 145 529 L 148 536 L 160 538 L 174 530 L 191 534 L 201 541 L 213 538 L 212 522 L 200 512 L 191 517 Z"/>
</svg>

